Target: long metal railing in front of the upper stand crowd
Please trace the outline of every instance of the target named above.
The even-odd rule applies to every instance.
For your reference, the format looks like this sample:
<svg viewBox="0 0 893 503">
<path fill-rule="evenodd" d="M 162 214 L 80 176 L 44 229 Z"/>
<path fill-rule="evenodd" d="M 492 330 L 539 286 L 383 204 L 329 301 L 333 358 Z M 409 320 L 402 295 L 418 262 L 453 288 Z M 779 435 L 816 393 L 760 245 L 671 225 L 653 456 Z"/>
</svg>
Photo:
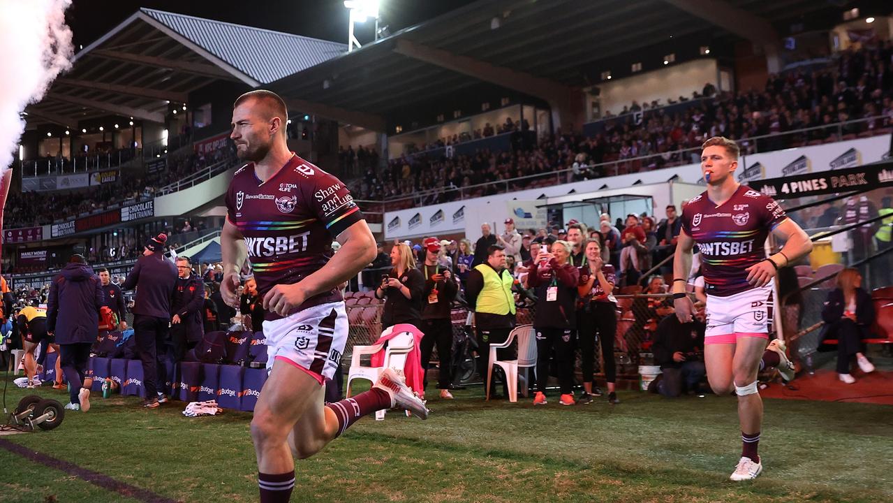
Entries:
<svg viewBox="0 0 893 503">
<path fill-rule="evenodd" d="M 810 141 L 830 142 L 841 141 L 848 134 L 857 134 L 847 132 L 847 128 L 853 128 L 859 124 L 869 122 L 883 122 L 889 118 L 883 115 L 868 117 L 864 119 L 856 119 L 847 122 L 836 122 L 825 126 L 816 126 L 812 128 L 803 128 L 799 130 L 782 131 L 776 134 L 768 134 L 763 136 L 738 138 L 742 152 L 742 164 L 746 163 L 747 155 L 754 155 L 764 152 L 773 152 L 792 145 L 802 147 Z M 870 132 L 872 135 L 886 134 L 889 127 L 865 129 L 859 132 Z M 824 137 L 824 138 L 819 138 Z M 788 141 L 786 141 L 788 140 Z M 472 197 L 480 197 L 488 189 L 497 189 L 497 193 L 505 193 L 511 190 L 525 189 L 535 181 L 548 181 L 555 185 L 570 183 L 578 180 L 593 180 L 620 174 L 641 172 L 646 169 L 662 169 L 685 164 L 700 163 L 701 147 L 689 147 L 672 152 L 657 152 L 648 155 L 638 155 L 625 159 L 617 159 L 604 163 L 584 164 L 576 168 L 564 168 L 560 170 L 542 172 L 537 174 L 526 175 L 522 177 L 511 178 L 508 180 L 489 181 L 478 183 L 465 187 L 450 186 L 449 188 L 426 189 L 414 192 L 409 196 L 390 197 L 382 199 L 381 203 L 388 205 L 396 205 L 400 202 L 408 201 L 411 205 L 428 205 L 435 202 L 464 200 Z"/>
</svg>

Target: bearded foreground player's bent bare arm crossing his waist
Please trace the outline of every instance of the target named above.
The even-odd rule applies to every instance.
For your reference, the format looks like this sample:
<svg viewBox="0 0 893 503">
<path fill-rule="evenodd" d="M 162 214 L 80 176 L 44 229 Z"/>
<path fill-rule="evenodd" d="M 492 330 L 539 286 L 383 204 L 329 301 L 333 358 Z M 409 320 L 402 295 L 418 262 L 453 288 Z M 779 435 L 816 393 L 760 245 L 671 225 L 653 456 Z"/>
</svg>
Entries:
<svg viewBox="0 0 893 503">
<path fill-rule="evenodd" d="M 336 238 L 338 253 L 318 271 L 291 285 L 276 285 L 263 297 L 263 308 L 287 316 L 305 299 L 348 281 L 375 258 L 375 238 L 365 220 L 354 222 Z"/>
</svg>

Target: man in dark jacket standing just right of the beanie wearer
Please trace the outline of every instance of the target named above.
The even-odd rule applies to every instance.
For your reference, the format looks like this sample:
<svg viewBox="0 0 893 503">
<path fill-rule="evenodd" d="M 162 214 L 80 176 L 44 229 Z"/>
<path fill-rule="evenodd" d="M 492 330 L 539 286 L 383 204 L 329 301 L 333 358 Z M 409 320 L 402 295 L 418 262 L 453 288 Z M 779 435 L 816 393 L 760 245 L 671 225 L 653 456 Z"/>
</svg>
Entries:
<svg viewBox="0 0 893 503">
<path fill-rule="evenodd" d="M 177 274 L 177 287 L 171 298 L 171 346 L 174 362 L 182 361 L 187 349 L 193 348 L 204 335 L 204 283 L 192 273 L 192 263 L 188 256 L 177 257 Z"/>
</svg>

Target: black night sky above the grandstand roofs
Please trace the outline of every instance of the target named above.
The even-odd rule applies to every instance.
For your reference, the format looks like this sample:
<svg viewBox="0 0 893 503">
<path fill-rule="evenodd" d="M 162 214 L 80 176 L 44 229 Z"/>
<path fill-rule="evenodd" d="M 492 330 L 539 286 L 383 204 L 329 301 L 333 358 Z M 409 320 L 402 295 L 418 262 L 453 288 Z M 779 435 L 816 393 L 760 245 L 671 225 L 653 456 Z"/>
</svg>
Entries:
<svg viewBox="0 0 893 503">
<path fill-rule="evenodd" d="M 393 33 L 470 3 L 472 0 L 381 0 L 379 22 Z M 347 9 L 342 0 L 74 0 L 68 22 L 75 51 L 102 37 L 140 7 L 347 43 Z M 361 43 L 372 38 L 374 22 L 366 25 L 363 30 L 357 27 Z"/>
</svg>

